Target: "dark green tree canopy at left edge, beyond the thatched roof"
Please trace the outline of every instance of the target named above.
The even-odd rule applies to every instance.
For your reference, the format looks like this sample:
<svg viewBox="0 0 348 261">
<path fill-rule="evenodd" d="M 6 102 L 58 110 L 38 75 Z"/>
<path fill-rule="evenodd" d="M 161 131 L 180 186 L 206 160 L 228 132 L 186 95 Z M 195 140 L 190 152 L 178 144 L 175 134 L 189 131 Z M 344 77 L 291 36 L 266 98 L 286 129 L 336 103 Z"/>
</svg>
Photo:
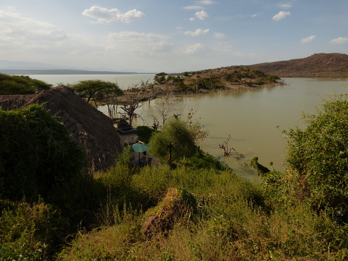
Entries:
<svg viewBox="0 0 348 261">
<path fill-rule="evenodd" d="M 51 88 L 51 84 L 29 76 L 0 74 L 0 95 L 36 94 Z"/>
</svg>

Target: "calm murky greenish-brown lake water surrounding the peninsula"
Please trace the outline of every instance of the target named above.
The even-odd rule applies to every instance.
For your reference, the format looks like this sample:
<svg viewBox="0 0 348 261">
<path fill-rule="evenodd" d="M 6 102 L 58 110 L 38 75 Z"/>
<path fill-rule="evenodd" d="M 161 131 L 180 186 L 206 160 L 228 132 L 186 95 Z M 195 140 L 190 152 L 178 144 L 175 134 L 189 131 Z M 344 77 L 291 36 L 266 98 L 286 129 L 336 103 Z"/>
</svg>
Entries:
<svg viewBox="0 0 348 261">
<path fill-rule="evenodd" d="M 119 86 L 127 88 L 141 80 L 153 80 L 154 74 L 136 75 L 32 75 L 34 79 L 47 83 L 74 83 L 79 80 L 101 79 L 105 81 L 117 81 Z M 194 115 L 204 129 L 209 133 L 207 139 L 199 145 L 202 150 L 213 156 L 220 156 L 220 160 L 249 180 L 259 179 L 252 169 L 242 165 L 255 156 L 259 163 L 269 168 L 269 162 L 273 162 L 275 170 L 284 171 L 285 148 L 287 141 L 282 130 L 289 130 L 296 126 L 304 128 L 301 112 L 315 113 L 315 108 L 320 105 L 320 99 L 328 97 L 330 93 L 344 93 L 346 89 L 337 80 L 317 80 L 306 78 L 286 78 L 289 85 L 270 88 L 229 90 L 212 92 L 208 94 L 190 95 L 179 97 L 181 104 L 198 106 Z M 344 82 L 347 84 L 347 82 Z M 158 101 L 145 102 L 136 113 L 140 118 L 134 120 L 134 126 L 151 126 L 155 114 L 153 105 Z M 106 108 L 99 108 L 105 111 Z M 187 115 L 187 111 L 183 113 Z M 234 148 L 240 154 L 246 154 L 245 158 L 238 159 L 234 156 L 223 157 L 219 144 L 228 139 L 229 147 Z"/>
</svg>

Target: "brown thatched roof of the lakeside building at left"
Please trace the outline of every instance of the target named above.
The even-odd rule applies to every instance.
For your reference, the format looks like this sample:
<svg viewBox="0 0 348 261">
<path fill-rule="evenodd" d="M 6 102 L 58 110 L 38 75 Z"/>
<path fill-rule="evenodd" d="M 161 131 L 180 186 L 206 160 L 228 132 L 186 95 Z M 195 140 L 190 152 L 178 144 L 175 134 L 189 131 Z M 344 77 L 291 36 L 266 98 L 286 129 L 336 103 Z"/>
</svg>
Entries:
<svg viewBox="0 0 348 261">
<path fill-rule="evenodd" d="M 16 106 L 26 108 L 35 102 L 46 102 L 44 107 L 50 114 L 58 116 L 73 140 L 85 149 L 89 170 L 105 170 L 115 163 L 115 156 L 122 148 L 112 120 L 81 99 L 72 89 L 58 86 L 34 95 L 0 96 L 3 110 Z"/>
</svg>

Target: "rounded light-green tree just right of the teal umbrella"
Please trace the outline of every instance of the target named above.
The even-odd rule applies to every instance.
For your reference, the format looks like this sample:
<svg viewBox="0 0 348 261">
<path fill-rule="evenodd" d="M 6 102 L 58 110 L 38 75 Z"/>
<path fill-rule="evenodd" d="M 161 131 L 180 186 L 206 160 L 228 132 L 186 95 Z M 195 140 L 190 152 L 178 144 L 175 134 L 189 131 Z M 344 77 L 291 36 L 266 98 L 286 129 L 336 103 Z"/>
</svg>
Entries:
<svg viewBox="0 0 348 261">
<path fill-rule="evenodd" d="M 190 157 L 197 150 L 192 133 L 180 119 L 171 119 L 160 132 L 154 133 L 149 146 L 156 157 L 169 163 Z"/>
</svg>

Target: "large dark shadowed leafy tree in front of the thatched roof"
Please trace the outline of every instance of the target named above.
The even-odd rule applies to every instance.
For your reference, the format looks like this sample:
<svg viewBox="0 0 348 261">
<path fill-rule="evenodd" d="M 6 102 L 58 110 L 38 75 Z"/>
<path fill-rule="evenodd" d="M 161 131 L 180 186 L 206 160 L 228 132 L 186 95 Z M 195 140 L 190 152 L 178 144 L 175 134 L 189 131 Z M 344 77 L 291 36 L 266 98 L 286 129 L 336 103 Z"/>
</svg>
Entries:
<svg viewBox="0 0 348 261">
<path fill-rule="evenodd" d="M 84 151 L 41 105 L 0 108 L 0 198 L 35 199 L 79 173 Z"/>
</svg>

